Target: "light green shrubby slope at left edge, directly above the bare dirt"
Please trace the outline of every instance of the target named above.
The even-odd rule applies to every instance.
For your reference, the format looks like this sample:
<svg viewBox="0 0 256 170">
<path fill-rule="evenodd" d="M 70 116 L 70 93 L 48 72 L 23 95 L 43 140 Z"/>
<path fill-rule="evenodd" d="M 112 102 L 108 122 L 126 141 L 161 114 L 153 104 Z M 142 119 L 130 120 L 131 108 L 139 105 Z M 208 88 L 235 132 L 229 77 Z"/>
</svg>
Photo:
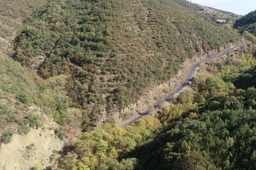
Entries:
<svg viewBox="0 0 256 170">
<path fill-rule="evenodd" d="M 42 125 L 39 115 L 34 115 L 38 108 L 30 108 L 34 101 L 37 103 L 36 77 L 35 72 L 0 55 L 0 134 L 6 134 L 3 142 L 10 142 L 13 133 L 28 133 L 30 127 Z"/>
</svg>

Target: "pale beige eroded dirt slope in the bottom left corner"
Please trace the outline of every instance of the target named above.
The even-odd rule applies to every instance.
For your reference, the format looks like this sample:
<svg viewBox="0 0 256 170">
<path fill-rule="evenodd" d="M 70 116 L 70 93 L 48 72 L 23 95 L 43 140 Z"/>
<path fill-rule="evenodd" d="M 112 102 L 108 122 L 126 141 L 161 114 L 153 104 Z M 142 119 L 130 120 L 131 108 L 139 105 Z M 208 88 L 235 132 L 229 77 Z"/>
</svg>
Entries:
<svg viewBox="0 0 256 170">
<path fill-rule="evenodd" d="M 43 168 L 52 166 L 52 150 L 61 150 L 64 142 L 54 135 L 54 123 L 44 128 L 32 129 L 27 135 L 13 135 L 13 141 L 2 144 L 0 149 L 0 169 L 31 169 L 35 164 Z"/>
</svg>

